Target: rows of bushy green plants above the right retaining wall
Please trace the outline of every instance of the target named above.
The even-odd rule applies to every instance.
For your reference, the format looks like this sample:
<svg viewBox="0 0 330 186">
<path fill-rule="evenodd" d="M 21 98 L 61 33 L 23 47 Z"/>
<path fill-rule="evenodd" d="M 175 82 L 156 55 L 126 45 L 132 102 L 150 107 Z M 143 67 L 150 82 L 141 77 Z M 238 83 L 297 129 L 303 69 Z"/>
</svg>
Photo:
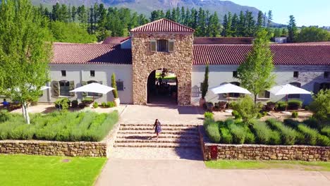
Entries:
<svg viewBox="0 0 330 186">
<path fill-rule="evenodd" d="M 305 123 L 316 125 L 310 124 L 310 120 L 306 120 Z M 245 124 L 241 120 L 215 121 L 212 118 L 206 118 L 204 130 L 211 142 L 220 144 L 330 146 L 329 126 L 311 128 L 305 123 L 291 119 L 282 123 L 279 120 L 269 119 L 266 122 L 251 120 L 250 124 Z"/>
</svg>

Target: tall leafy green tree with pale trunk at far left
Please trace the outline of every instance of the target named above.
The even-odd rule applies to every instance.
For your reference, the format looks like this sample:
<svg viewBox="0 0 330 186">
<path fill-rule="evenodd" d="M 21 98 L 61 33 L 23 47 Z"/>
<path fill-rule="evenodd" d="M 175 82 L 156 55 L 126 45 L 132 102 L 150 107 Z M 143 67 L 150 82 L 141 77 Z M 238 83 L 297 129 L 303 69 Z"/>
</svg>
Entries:
<svg viewBox="0 0 330 186">
<path fill-rule="evenodd" d="M 47 23 L 28 0 L 0 1 L 0 12 L 0 93 L 23 104 L 30 124 L 28 104 L 49 80 Z"/>
</svg>

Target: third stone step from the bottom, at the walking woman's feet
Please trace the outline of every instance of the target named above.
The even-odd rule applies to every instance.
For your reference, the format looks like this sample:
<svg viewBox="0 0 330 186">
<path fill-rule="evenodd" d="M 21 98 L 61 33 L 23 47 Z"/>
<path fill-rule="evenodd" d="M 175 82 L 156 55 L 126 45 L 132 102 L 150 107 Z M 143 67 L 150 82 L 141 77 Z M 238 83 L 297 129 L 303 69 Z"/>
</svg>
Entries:
<svg viewBox="0 0 330 186">
<path fill-rule="evenodd" d="M 124 139 L 147 139 L 149 137 L 155 137 L 156 135 L 154 133 L 152 134 L 118 134 L 117 138 L 124 138 Z M 176 135 L 176 134 L 161 134 L 159 135 L 159 138 L 169 138 L 169 139 L 195 139 L 195 140 L 199 140 L 198 135 L 193 134 L 193 135 L 186 135 L 186 134 L 182 134 L 182 135 Z"/>
</svg>

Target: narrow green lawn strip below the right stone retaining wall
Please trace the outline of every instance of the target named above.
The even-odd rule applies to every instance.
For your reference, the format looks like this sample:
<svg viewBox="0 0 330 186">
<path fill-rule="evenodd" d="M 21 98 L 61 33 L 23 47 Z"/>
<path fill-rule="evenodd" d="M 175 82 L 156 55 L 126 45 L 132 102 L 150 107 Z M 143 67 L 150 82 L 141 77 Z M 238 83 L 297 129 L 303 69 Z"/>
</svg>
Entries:
<svg viewBox="0 0 330 186">
<path fill-rule="evenodd" d="M 301 171 L 330 171 L 330 162 L 324 161 L 204 161 L 207 168 L 217 169 L 293 169 Z"/>
</svg>

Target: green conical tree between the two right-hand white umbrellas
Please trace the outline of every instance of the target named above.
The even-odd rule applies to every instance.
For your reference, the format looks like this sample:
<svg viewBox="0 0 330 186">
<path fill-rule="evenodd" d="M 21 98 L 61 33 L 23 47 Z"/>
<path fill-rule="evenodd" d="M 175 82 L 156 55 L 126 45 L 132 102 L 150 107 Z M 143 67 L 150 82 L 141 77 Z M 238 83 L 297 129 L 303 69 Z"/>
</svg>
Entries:
<svg viewBox="0 0 330 186">
<path fill-rule="evenodd" d="M 270 89 L 275 83 L 275 75 L 271 74 L 274 70 L 273 54 L 271 54 L 268 42 L 269 37 L 266 30 L 262 29 L 257 32 L 257 39 L 253 43 L 252 51 L 237 69 L 240 85 L 252 92 L 255 104 L 257 94 Z"/>
</svg>

